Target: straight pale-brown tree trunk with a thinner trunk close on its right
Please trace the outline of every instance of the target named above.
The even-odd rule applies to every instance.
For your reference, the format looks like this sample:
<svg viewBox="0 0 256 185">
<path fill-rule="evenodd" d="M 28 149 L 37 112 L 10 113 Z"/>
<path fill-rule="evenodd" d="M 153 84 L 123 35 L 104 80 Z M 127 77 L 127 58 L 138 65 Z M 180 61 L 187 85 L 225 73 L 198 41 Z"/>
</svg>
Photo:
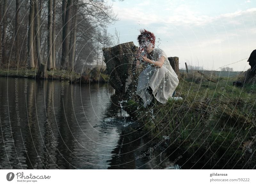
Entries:
<svg viewBox="0 0 256 185">
<path fill-rule="evenodd" d="M 52 0 L 48 0 L 47 69 L 52 69 Z"/>
</svg>

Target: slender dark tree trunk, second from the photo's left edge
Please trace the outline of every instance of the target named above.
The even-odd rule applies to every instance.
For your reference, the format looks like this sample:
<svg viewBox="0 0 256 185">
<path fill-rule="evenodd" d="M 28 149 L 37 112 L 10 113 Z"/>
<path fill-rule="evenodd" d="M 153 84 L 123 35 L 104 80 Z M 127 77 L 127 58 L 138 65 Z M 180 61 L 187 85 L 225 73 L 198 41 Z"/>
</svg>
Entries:
<svg viewBox="0 0 256 185">
<path fill-rule="evenodd" d="M 18 35 L 18 29 L 19 29 L 19 11 L 20 11 L 20 2 L 19 0 L 16 0 L 16 12 L 15 12 L 15 37 L 14 37 L 14 42 L 15 42 L 15 62 L 16 66 L 19 63 L 19 35 Z M 1 16 L 0 16 L 1 19 Z M 1 42 L 0 42 L 1 43 Z"/>
</svg>

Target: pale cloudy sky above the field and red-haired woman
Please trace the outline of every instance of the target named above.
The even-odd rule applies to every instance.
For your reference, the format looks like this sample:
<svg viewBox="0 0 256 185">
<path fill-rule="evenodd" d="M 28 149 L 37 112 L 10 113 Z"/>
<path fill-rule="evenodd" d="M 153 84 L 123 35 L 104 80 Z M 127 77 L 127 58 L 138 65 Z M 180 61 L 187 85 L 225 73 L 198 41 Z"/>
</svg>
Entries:
<svg viewBox="0 0 256 185">
<path fill-rule="evenodd" d="M 138 46 L 140 29 L 156 35 L 156 47 L 168 57 L 220 70 L 228 65 L 234 71 L 250 68 L 245 58 L 256 49 L 256 0 L 108 0 L 120 20 L 108 32 L 120 33 L 120 44 Z M 236 61 L 240 62 L 234 63 Z"/>
</svg>

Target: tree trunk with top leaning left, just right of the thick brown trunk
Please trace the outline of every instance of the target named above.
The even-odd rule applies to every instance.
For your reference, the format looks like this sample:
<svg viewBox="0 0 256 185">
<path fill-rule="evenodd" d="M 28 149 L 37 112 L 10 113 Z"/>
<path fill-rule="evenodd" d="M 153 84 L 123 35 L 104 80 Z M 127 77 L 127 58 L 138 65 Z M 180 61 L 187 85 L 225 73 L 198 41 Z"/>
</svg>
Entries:
<svg viewBox="0 0 256 185">
<path fill-rule="evenodd" d="M 40 42 L 40 21 L 39 21 L 39 8 L 38 1 L 35 1 L 35 20 L 36 20 L 36 55 L 37 55 L 37 66 L 40 67 L 42 64 L 42 56 L 41 56 L 41 42 Z"/>
</svg>

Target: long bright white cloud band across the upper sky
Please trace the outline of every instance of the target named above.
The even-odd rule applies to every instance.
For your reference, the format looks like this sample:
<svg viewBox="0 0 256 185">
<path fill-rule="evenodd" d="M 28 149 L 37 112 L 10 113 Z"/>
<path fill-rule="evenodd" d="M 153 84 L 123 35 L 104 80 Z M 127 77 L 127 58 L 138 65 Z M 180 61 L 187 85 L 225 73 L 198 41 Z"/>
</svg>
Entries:
<svg viewBox="0 0 256 185">
<path fill-rule="evenodd" d="M 256 8 L 247 9 L 245 11 L 235 11 L 232 13 L 221 14 L 218 16 L 200 15 L 200 12 L 191 10 L 187 4 L 181 4 L 175 8 L 166 5 L 163 8 L 159 4 L 143 1 L 134 4 L 132 7 L 120 8 L 113 6 L 114 11 L 118 12 L 118 17 L 124 21 L 131 21 L 145 25 L 165 24 L 173 26 L 203 26 L 212 22 L 222 21 L 234 25 L 243 24 L 241 19 L 247 17 L 256 17 Z M 161 11 L 162 10 L 162 11 Z M 237 18 L 240 18 L 237 20 Z"/>
</svg>

